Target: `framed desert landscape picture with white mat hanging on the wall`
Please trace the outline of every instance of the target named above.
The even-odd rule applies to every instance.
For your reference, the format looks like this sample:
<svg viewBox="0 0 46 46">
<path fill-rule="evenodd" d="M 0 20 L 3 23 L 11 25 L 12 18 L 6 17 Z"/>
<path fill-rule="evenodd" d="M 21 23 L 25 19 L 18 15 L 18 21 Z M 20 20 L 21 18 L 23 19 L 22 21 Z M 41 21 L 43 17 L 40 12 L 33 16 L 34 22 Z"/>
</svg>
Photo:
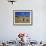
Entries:
<svg viewBox="0 0 46 46">
<path fill-rule="evenodd" d="M 13 24 L 32 25 L 32 10 L 13 10 Z"/>
</svg>

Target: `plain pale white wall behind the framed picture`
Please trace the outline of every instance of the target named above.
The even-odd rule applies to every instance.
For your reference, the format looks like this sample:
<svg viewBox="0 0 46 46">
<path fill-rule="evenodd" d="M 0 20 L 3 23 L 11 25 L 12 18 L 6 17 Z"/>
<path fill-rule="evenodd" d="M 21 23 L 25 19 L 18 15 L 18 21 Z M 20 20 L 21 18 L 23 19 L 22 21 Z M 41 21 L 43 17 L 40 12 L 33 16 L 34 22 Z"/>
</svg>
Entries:
<svg viewBox="0 0 46 46">
<path fill-rule="evenodd" d="M 32 9 L 32 26 L 14 26 L 13 9 Z M 15 40 L 19 32 L 29 33 L 33 40 L 46 40 L 46 1 L 17 0 L 13 5 L 0 0 L 0 41 Z"/>
</svg>

